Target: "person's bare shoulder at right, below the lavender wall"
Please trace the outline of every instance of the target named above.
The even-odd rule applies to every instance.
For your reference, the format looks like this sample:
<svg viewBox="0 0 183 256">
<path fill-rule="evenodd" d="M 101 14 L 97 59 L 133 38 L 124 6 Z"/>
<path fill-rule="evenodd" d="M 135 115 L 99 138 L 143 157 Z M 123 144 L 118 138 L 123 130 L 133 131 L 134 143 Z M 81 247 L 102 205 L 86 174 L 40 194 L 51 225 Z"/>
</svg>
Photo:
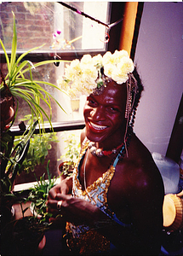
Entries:
<svg viewBox="0 0 183 256">
<path fill-rule="evenodd" d="M 129 183 L 129 187 L 134 189 L 163 187 L 163 180 L 152 159 L 152 154 L 135 135 L 131 139 L 128 156 L 120 161 L 118 171 L 123 173 L 123 178 Z"/>
</svg>

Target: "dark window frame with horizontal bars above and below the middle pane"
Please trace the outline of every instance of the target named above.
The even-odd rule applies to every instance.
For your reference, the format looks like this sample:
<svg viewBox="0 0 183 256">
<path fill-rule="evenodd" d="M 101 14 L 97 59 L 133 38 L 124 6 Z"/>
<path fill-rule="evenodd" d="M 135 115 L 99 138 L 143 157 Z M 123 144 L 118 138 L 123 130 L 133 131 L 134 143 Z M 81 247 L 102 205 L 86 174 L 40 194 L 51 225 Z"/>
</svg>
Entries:
<svg viewBox="0 0 183 256">
<path fill-rule="evenodd" d="M 124 15 L 125 8 L 127 5 L 130 5 L 133 3 L 125 3 L 125 2 L 109 2 L 108 6 L 108 12 L 109 12 L 109 23 L 113 23 L 114 21 L 117 21 L 121 18 L 122 15 Z M 138 3 L 138 8 L 136 12 L 136 18 L 134 22 L 134 33 L 133 33 L 133 41 L 132 41 L 132 47 L 130 51 L 130 56 L 132 59 L 134 59 L 134 54 L 135 54 L 135 46 L 136 42 L 138 39 L 138 33 L 140 29 L 140 19 L 141 15 L 143 13 L 143 6 L 144 3 Z M 117 13 L 118 10 L 118 13 Z M 125 16 L 125 15 L 124 15 Z M 119 35 L 118 38 L 114 36 L 114 34 Z M 120 39 L 123 37 L 123 20 L 117 24 L 117 26 L 114 26 L 113 31 L 109 32 L 109 35 L 112 37 L 110 38 L 109 43 L 106 43 L 106 49 L 77 49 L 77 59 L 81 59 L 84 54 L 90 54 L 92 56 L 96 54 L 104 55 L 107 50 L 109 51 L 114 51 L 115 49 L 120 49 L 121 43 Z M 21 55 L 24 51 L 17 51 L 17 57 Z M 7 51 L 8 55 L 10 56 L 11 51 Z M 75 51 L 73 50 L 57 50 L 56 51 L 57 55 L 61 56 L 61 59 L 66 60 L 66 61 L 72 61 L 76 59 L 76 54 Z M 53 60 L 54 59 L 54 50 L 36 50 L 32 53 L 29 53 L 26 55 L 26 59 L 29 59 L 32 62 L 37 62 L 37 61 L 46 61 L 46 60 Z M 5 55 L 3 54 L 3 50 L 0 50 L 0 61 L 1 63 L 4 63 L 5 60 Z M 73 121 L 68 121 L 68 122 L 53 122 L 53 127 L 54 131 L 70 131 L 70 130 L 77 130 L 77 129 L 83 129 L 84 127 L 84 121 L 83 120 L 73 120 Z M 82 127 L 82 128 L 80 128 Z M 45 128 L 45 132 L 50 132 L 50 125 L 47 125 Z M 21 135 L 22 132 L 19 129 L 18 125 L 14 125 L 11 127 L 10 131 L 14 133 L 14 135 Z M 38 133 L 38 129 L 36 129 L 35 133 Z"/>
</svg>

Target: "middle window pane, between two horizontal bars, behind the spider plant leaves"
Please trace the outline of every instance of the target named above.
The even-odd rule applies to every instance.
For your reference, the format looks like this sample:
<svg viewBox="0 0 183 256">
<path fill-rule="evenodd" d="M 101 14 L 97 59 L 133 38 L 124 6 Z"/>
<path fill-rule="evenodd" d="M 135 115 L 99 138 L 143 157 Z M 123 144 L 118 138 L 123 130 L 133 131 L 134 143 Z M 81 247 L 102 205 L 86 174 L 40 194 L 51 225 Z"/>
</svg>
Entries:
<svg viewBox="0 0 183 256">
<path fill-rule="evenodd" d="M 33 63 L 34 64 L 34 63 Z M 2 72 L 3 76 L 5 77 L 7 70 L 6 70 L 6 63 L 2 63 Z M 41 67 L 36 67 L 35 69 L 31 70 L 32 77 L 34 80 L 49 82 L 55 84 L 60 88 L 58 80 L 60 76 L 64 74 L 64 68 L 66 63 L 60 63 L 59 67 L 56 67 L 54 63 L 47 64 Z M 27 74 L 28 75 L 28 74 Z M 25 77 L 28 78 L 25 74 Z M 83 105 L 85 103 L 86 96 L 80 96 L 77 99 L 71 99 L 66 93 L 54 89 L 53 87 L 47 84 L 41 84 L 43 89 L 45 89 L 51 96 L 56 99 L 61 107 L 54 102 L 54 100 L 50 97 L 51 107 L 52 107 L 52 116 L 51 121 L 54 122 L 65 122 L 65 121 L 74 121 L 74 120 L 83 120 Z M 28 104 L 22 100 L 22 98 L 18 97 L 19 100 L 19 107 L 18 107 L 18 114 L 16 116 L 14 125 L 19 125 L 20 121 L 24 121 L 27 125 L 29 120 L 29 115 L 31 114 L 30 108 Z M 49 107 L 46 105 L 43 100 L 40 101 L 40 106 L 43 110 L 49 115 Z M 47 121 L 46 117 L 43 116 L 44 120 Z"/>
</svg>

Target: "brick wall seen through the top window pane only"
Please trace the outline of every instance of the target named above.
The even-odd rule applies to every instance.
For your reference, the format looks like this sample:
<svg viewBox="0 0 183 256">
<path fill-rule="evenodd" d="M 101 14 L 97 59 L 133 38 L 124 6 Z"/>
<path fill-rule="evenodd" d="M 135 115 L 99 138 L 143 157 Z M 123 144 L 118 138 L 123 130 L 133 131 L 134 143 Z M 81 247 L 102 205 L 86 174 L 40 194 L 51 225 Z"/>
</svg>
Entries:
<svg viewBox="0 0 183 256">
<path fill-rule="evenodd" d="M 42 49 L 49 49 L 53 43 L 54 3 L 32 2 L 28 9 L 24 2 L 1 3 L 1 38 L 7 49 L 10 49 L 12 41 L 12 11 L 16 20 L 18 49 L 31 49 L 45 43 Z"/>
</svg>

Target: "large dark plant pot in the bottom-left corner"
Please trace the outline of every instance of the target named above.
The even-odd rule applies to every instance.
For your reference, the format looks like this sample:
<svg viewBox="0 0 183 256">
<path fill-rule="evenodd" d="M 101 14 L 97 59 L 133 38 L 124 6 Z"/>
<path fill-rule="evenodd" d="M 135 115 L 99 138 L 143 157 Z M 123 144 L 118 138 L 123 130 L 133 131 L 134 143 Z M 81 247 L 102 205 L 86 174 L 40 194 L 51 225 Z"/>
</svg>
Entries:
<svg viewBox="0 0 183 256">
<path fill-rule="evenodd" d="M 9 223 L 2 236 L 2 255 L 38 255 L 46 243 L 43 228 L 30 216 Z"/>
</svg>

